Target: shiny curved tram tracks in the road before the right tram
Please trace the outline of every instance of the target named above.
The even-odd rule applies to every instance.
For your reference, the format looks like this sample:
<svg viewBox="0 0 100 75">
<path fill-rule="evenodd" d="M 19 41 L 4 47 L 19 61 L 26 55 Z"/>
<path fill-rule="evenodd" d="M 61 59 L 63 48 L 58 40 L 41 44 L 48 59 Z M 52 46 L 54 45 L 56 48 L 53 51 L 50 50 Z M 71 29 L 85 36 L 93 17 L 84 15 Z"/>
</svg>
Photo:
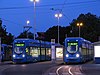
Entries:
<svg viewBox="0 0 100 75">
<path fill-rule="evenodd" d="M 49 69 L 43 75 L 84 75 L 81 72 L 82 66 L 58 66 Z"/>
</svg>

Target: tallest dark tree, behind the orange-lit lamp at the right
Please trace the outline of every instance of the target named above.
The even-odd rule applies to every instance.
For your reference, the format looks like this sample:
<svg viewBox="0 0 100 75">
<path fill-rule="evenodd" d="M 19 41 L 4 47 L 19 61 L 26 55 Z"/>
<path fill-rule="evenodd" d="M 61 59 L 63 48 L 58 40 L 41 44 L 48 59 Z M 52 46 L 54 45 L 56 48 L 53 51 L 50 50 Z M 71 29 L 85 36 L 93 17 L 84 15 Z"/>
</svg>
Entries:
<svg viewBox="0 0 100 75">
<path fill-rule="evenodd" d="M 80 14 L 77 19 L 74 19 L 70 26 L 73 28 L 72 37 L 78 37 L 78 27 L 76 24 L 82 22 L 81 37 L 92 42 L 98 41 L 100 36 L 100 18 L 91 13 Z"/>
</svg>

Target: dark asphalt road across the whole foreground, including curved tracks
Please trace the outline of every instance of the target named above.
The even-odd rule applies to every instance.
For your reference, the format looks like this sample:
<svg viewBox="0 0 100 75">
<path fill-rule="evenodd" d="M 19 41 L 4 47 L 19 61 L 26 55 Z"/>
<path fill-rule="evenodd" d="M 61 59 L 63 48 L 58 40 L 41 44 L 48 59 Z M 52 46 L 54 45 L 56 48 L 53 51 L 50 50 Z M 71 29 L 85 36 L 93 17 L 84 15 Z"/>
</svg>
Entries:
<svg viewBox="0 0 100 75">
<path fill-rule="evenodd" d="M 61 64 L 38 62 L 30 64 L 0 64 L 0 75 L 100 75 L 100 64 Z"/>
</svg>

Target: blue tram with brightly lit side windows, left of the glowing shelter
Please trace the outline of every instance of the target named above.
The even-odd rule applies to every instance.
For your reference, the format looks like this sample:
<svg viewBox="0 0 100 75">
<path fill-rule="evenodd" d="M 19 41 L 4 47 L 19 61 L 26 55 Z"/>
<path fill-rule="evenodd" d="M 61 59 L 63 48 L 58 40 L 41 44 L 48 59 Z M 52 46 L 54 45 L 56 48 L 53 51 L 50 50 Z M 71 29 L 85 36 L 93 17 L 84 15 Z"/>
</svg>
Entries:
<svg viewBox="0 0 100 75">
<path fill-rule="evenodd" d="M 33 39 L 15 39 L 13 62 L 36 62 L 51 60 L 51 43 Z"/>
</svg>

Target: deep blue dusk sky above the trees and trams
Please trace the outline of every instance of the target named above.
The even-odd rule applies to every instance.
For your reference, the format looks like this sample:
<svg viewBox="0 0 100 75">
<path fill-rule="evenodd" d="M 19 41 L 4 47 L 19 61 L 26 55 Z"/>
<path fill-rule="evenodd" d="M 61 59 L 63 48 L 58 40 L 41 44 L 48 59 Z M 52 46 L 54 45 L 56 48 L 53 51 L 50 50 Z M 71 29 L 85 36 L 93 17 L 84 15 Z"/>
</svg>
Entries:
<svg viewBox="0 0 100 75">
<path fill-rule="evenodd" d="M 34 8 L 30 0 L 0 0 L 0 18 L 6 25 L 7 32 L 18 36 L 23 32 L 23 26 L 30 21 L 33 27 Z M 57 13 L 54 9 L 62 9 L 60 26 L 68 26 L 81 13 L 88 12 L 100 16 L 100 0 L 40 0 L 36 3 L 36 32 L 45 32 L 52 26 L 57 26 Z M 33 28 L 30 30 L 33 33 Z"/>
</svg>

